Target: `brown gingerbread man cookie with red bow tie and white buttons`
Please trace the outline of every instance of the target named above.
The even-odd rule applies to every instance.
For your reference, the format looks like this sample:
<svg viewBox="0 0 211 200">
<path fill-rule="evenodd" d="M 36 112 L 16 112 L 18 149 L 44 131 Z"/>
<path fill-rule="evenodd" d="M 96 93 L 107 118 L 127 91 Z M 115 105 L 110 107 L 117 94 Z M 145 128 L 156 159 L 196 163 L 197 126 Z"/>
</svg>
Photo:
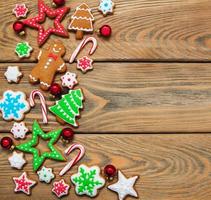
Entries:
<svg viewBox="0 0 211 200">
<path fill-rule="evenodd" d="M 57 72 L 64 73 L 67 66 L 62 59 L 66 50 L 61 41 L 54 41 L 47 50 L 41 50 L 38 63 L 29 75 L 30 83 L 40 82 L 42 90 L 48 90 Z"/>
</svg>

